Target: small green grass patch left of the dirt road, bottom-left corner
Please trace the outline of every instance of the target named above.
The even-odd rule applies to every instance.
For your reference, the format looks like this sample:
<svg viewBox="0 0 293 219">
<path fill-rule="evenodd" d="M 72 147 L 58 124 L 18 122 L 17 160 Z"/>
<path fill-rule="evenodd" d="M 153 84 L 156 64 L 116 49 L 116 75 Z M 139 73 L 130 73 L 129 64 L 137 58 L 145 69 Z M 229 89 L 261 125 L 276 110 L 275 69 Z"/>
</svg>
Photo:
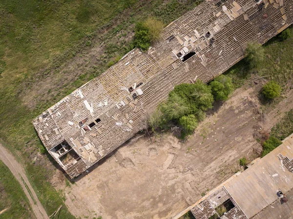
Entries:
<svg viewBox="0 0 293 219">
<path fill-rule="evenodd" d="M 0 215 L 1 219 L 35 218 L 21 185 L 2 161 L 0 161 L 0 197 L 0 211 L 8 208 Z"/>
</svg>

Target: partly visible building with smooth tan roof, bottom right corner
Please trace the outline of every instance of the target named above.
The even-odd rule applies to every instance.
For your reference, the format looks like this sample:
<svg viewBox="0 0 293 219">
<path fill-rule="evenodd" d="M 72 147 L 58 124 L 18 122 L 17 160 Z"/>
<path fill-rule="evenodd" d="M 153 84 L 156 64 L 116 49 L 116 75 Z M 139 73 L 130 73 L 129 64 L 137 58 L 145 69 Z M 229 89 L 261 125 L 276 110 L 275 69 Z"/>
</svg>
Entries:
<svg viewBox="0 0 293 219">
<path fill-rule="evenodd" d="M 293 135 L 190 210 L 196 219 L 293 219 Z"/>
</svg>

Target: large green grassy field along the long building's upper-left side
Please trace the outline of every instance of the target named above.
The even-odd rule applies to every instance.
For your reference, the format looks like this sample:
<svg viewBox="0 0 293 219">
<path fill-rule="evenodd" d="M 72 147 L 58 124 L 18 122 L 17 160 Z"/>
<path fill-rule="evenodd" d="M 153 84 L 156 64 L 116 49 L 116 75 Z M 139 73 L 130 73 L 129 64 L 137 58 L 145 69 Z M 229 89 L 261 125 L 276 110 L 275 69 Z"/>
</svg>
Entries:
<svg viewBox="0 0 293 219">
<path fill-rule="evenodd" d="M 78 55 L 80 50 L 86 50 L 84 47 L 91 45 L 97 39 L 97 33 L 103 32 L 105 28 L 110 31 L 98 37 L 100 43 L 105 38 L 114 39 L 152 11 L 168 23 L 195 5 L 196 2 L 191 0 L 181 3 L 175 0 L 145 0 L 139 3 L 136 0 L 0 1 L 0 60 L 6 63 L 3 78 L 0 79 L 0 126 L 3 127 L 0 129 L 0 139 L 24 164 L 27 176 L 48 215 L 63 204 L 64 198 L 62 192 L 56 191 L 49 183 L 55 168 L 48 158 L 43 156 L 45 162 L 39 164 L 32 162 L 34 155 L 43 146 L 31 121 L 64 94 L 102 71 L 86 72 L 74 83 L 65 84 L 56 96 L 42 100 L 34 109 L 23 105 L 21 93 L 29 90 L 36 77 L 46 78 L 56 74 L 64 61 Z M 130 17 L 114 27 L 113 19 L 124 10 L 129 11 Z M 126 43 L 120 46 L 108 45 L 105 53 L 111 55 L 102 57 L 99 69 L 105 69 L 113 57 L 122 55 L 121 47 L 125 46 Z M 10 195 L 12 191 L 8 190 L 7 193 Z M 11 209 L 14 211 L 17 207 L 12 206 Z M 62 209 L 60 218 L 74 218 L 66 207 Z"/>
</svg>

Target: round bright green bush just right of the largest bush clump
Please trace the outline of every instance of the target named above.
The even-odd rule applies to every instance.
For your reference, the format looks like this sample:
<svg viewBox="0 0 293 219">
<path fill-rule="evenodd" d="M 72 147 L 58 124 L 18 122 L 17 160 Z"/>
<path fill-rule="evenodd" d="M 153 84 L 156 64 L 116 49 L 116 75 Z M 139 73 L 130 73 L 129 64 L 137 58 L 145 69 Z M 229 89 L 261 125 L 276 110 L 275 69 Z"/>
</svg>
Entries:
<svg viewBox="0 0 293 219">
<path fill-rule="evenodd" d="M 209 83 L 215 100 L 228 100 L 234 87 L 230 77 L 221 75 Z"/>
</svg>

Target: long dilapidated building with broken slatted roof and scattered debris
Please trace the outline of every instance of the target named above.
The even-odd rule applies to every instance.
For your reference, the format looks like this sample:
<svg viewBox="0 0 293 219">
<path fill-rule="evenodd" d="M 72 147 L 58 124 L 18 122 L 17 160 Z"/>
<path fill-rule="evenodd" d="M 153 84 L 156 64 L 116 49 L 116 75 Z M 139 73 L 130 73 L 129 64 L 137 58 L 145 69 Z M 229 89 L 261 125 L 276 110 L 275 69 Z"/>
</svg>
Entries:
<svg viewBox="0 0 293 219">
<path fill-rule="evenodd" d="M 292 0 L 210 0 L 171 22 L 146 53 L 134 49 L 33 120 L 74 178 L 141 130 L 175 85 L 207 83 L 292 24 Z"/>
</svg>

